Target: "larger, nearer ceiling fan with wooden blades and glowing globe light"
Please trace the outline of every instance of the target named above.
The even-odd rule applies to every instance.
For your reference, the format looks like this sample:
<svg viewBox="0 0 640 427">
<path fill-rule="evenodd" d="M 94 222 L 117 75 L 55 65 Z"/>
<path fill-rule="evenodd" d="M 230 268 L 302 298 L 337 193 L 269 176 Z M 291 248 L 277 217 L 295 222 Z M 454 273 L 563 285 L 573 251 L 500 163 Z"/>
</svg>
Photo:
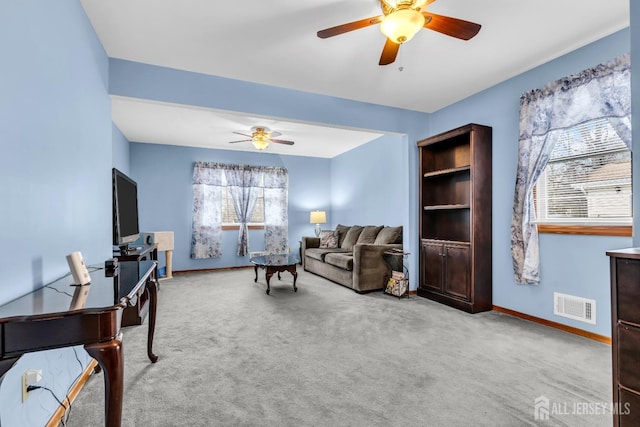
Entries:
<svg viewBox="0 0 640 427">
<path fill-rule="evenodd" d="M 382 15 L 353 21 L 318 31 L 318 37 L 328 37 L 380 24 L 380 31 L 387 36 L 379 65 L 388 65 L 396 60 L 402 43 L 406 43 L 421 29 L 437 31 L 451 37 L 469 40 L 480 31 L 480 24 L 462 19 L 436 15 L 428 12 L 427 6 L 436 0 L 380 0 Z"/>
</svg>

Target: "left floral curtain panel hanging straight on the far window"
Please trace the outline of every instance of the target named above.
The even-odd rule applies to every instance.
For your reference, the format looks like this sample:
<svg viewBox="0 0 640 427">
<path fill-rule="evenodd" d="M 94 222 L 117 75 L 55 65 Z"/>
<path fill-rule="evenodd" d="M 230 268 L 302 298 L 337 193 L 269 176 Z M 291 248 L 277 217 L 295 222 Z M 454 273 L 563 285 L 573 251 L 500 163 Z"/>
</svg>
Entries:
<svg viewBox="0 0 640 427">
<path fill-rule="evenodd" d="M 193 168 L 193 234 L 191 258 L 222 256 L 223 172 L 218 163 L 196 162 Z"/>
</svg>

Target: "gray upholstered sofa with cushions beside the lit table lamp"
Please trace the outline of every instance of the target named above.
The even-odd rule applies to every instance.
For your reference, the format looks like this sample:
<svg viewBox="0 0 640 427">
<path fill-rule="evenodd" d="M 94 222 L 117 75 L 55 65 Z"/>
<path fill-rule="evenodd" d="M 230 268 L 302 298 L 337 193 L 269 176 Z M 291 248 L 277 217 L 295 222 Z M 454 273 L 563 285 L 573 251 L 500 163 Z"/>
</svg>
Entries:
<svg viewBox="0 0 640 427">
<path fill-rule="evenodd" d="M 384 287 L 391 269 L 383 253 L 402 249 L 402 226 L 345 226 L 303 237 L 302 266 L 359 293 Z"/>
</svg>

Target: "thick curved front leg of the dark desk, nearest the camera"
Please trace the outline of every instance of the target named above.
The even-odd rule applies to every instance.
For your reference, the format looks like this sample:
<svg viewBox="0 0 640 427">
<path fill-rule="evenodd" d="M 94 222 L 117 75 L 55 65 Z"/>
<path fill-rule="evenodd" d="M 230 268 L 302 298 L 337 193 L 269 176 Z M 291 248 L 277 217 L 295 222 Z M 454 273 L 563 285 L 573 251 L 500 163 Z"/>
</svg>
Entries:
<svg viewBox="0 0 640 427">
<path fill-rule="evenodd" d="M 124 384 L 122 332 L 112 341 L 87 344 L 84 348 L 91 357 L 98 361 L 104 371 L 104 425 L 107 427 L 120 427 Z"/>
</svg>

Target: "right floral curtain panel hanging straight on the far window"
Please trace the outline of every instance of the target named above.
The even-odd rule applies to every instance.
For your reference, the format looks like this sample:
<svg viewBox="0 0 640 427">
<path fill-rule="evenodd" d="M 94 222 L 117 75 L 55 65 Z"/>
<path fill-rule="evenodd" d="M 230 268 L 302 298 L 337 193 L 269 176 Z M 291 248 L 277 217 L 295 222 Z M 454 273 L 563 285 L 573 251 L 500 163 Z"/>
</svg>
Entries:
<svg viewBox="0 0 640 427">
<path fill-rule="evenodd" d="M 289 247 L 289 174 L 285 168 L 263 168 L 264 243 L 271 253 L 286 253 Z"/>
</svg>

